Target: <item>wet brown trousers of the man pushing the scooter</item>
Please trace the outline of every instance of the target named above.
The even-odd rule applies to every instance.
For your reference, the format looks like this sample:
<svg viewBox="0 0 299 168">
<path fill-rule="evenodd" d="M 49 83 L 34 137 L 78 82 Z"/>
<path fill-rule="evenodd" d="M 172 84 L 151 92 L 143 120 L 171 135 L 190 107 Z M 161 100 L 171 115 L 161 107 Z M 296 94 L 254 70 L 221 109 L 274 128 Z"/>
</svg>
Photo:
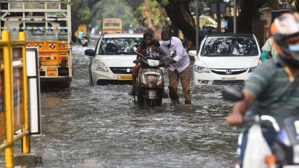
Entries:
<svg viewBox="0 0 299 168">
<path fill-rule="evenodd" d="M 171 100 L 179 99 L 178 96 L 178 85 L 179 79 L 182 84 L 182 91 L 185 97 L 185 104 L 191 104 L 191 96 L 190 96 L 190 69 L 191 65 L 189 65 L 184 71 L 179 73 L 178 70 L 170 71 L 168 70 L 169 77 L 169 96 Z"/>
</svg>

